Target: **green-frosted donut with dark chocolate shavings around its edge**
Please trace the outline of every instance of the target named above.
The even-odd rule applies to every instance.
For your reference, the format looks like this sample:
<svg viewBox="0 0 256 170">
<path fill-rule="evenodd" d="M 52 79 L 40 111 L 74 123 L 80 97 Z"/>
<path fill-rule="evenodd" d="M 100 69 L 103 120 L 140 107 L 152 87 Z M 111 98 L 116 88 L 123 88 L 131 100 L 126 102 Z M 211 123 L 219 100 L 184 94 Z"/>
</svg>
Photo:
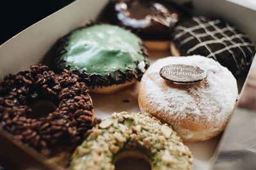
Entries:
<svg viewBox="0 0 256 170">
<path fill-rule="evenodd" d="M 149 65 L 142 41 L 121 27 L 87 25 L 58 43 L 56 67 L 79 75 L 91 92 L 110 94 L 140 81 Z"/>
</svg>

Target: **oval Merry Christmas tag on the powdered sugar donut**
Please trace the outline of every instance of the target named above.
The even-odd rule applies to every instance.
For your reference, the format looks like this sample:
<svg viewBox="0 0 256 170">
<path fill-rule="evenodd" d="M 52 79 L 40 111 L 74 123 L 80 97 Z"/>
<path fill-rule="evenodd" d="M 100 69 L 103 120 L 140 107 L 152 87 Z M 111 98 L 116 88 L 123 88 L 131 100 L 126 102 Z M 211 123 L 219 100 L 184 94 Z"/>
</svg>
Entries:
<svg viewBox="0 0 256 170">
<path fill-rule="evenodd" d="M 170 64 L 160 69 L 160 76 L 176 84 L 191 84 L 207 78 L 207 72 L 197 66 Z"/>
</svg>

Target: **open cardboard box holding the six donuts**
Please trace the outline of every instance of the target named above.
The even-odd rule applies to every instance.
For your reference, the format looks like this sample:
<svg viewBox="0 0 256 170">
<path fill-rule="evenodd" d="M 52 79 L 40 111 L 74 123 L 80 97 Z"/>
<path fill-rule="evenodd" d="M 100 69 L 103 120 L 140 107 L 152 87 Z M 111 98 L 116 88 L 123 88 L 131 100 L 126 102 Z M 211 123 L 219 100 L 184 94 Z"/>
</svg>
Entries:
<svg viewBox="0 0 256 170">
<path fill-rule="evenodd" d="M 58 39 L 90 21 L 98 21 L 109 1 L 77 0 L 56 13 L 44 18 L 20 32 L 0 46 L 0 81 L 9 73 L 28 70 L 33 64 L 52 64 L 52 48 Z M 256 7 L 252 1 L 202 1 L 195 0 L 195 15 L 227 20 L 239 30 L 248 34 L 256 43 Z M 228 10 L 227 10 L 228 9 Z M 243 14 L 243 15 L 242 15 Z M 250 18 L 250 19 L 248 19 Z M 168 51 L 149 51 L 151 64 L 161 57 L 170 56 Z M 255 60 L 253 63 L 255 64 Z M 243 89 L 248 73 L 237 78 L 239 93 Z M 92 94 L 96 117 L 108 118 L 113 112 L 136 113 L 138 106 L 138 83 L 115 94 Z M 221 135 L 204 142 L 185 142 L 193 153 L 193 169 L 210 169 L 214 152 Z M 45 159 L 32 148 L 13 140 L 13 136 L 0 129 L 0 164 L 8 169 L 63 169 L 51 160 Z M 124 166 L 129 162 L 123 162 Z M 135 163 L 134 163 L 135 164 Z M 138 164 L 139 166 L 140 164 Z M 139 166 L 140 169 L 140 166 Z M 143 167 L 141 167 L 143 169 Z"/>
</svg>

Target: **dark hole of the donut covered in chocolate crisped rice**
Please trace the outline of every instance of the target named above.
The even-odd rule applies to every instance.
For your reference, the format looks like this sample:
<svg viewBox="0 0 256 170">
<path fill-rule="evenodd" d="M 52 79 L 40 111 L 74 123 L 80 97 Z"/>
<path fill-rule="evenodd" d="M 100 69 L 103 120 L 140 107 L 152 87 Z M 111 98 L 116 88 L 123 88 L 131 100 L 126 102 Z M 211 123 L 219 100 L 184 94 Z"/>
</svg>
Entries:
<svg viewBox="0 0 256 170">
<path fill-rule="evenodd" d="M 31 108 L 32 112 L 28 113 L 26 117 L 35 119 L 47 117 L 49 113 L 52 113 L 57 108 L 57 106 L 51 101 L 35 101 L 30 103 L 28 106 Z"/>
</svg>

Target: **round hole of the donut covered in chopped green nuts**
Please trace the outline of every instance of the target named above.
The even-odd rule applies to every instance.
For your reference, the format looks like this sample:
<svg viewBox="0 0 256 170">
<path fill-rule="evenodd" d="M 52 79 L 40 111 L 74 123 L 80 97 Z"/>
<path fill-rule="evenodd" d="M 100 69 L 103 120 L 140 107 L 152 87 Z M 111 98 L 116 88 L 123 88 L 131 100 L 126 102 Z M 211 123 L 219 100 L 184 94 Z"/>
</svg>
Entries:
<svg viewBox="0 0 256 170">
<path fill-rule="evenodd" d="M 116 170 L 150 170 L 150 159 L 141 152 L 121 152 L 115 157 Z"/>
</svg>

